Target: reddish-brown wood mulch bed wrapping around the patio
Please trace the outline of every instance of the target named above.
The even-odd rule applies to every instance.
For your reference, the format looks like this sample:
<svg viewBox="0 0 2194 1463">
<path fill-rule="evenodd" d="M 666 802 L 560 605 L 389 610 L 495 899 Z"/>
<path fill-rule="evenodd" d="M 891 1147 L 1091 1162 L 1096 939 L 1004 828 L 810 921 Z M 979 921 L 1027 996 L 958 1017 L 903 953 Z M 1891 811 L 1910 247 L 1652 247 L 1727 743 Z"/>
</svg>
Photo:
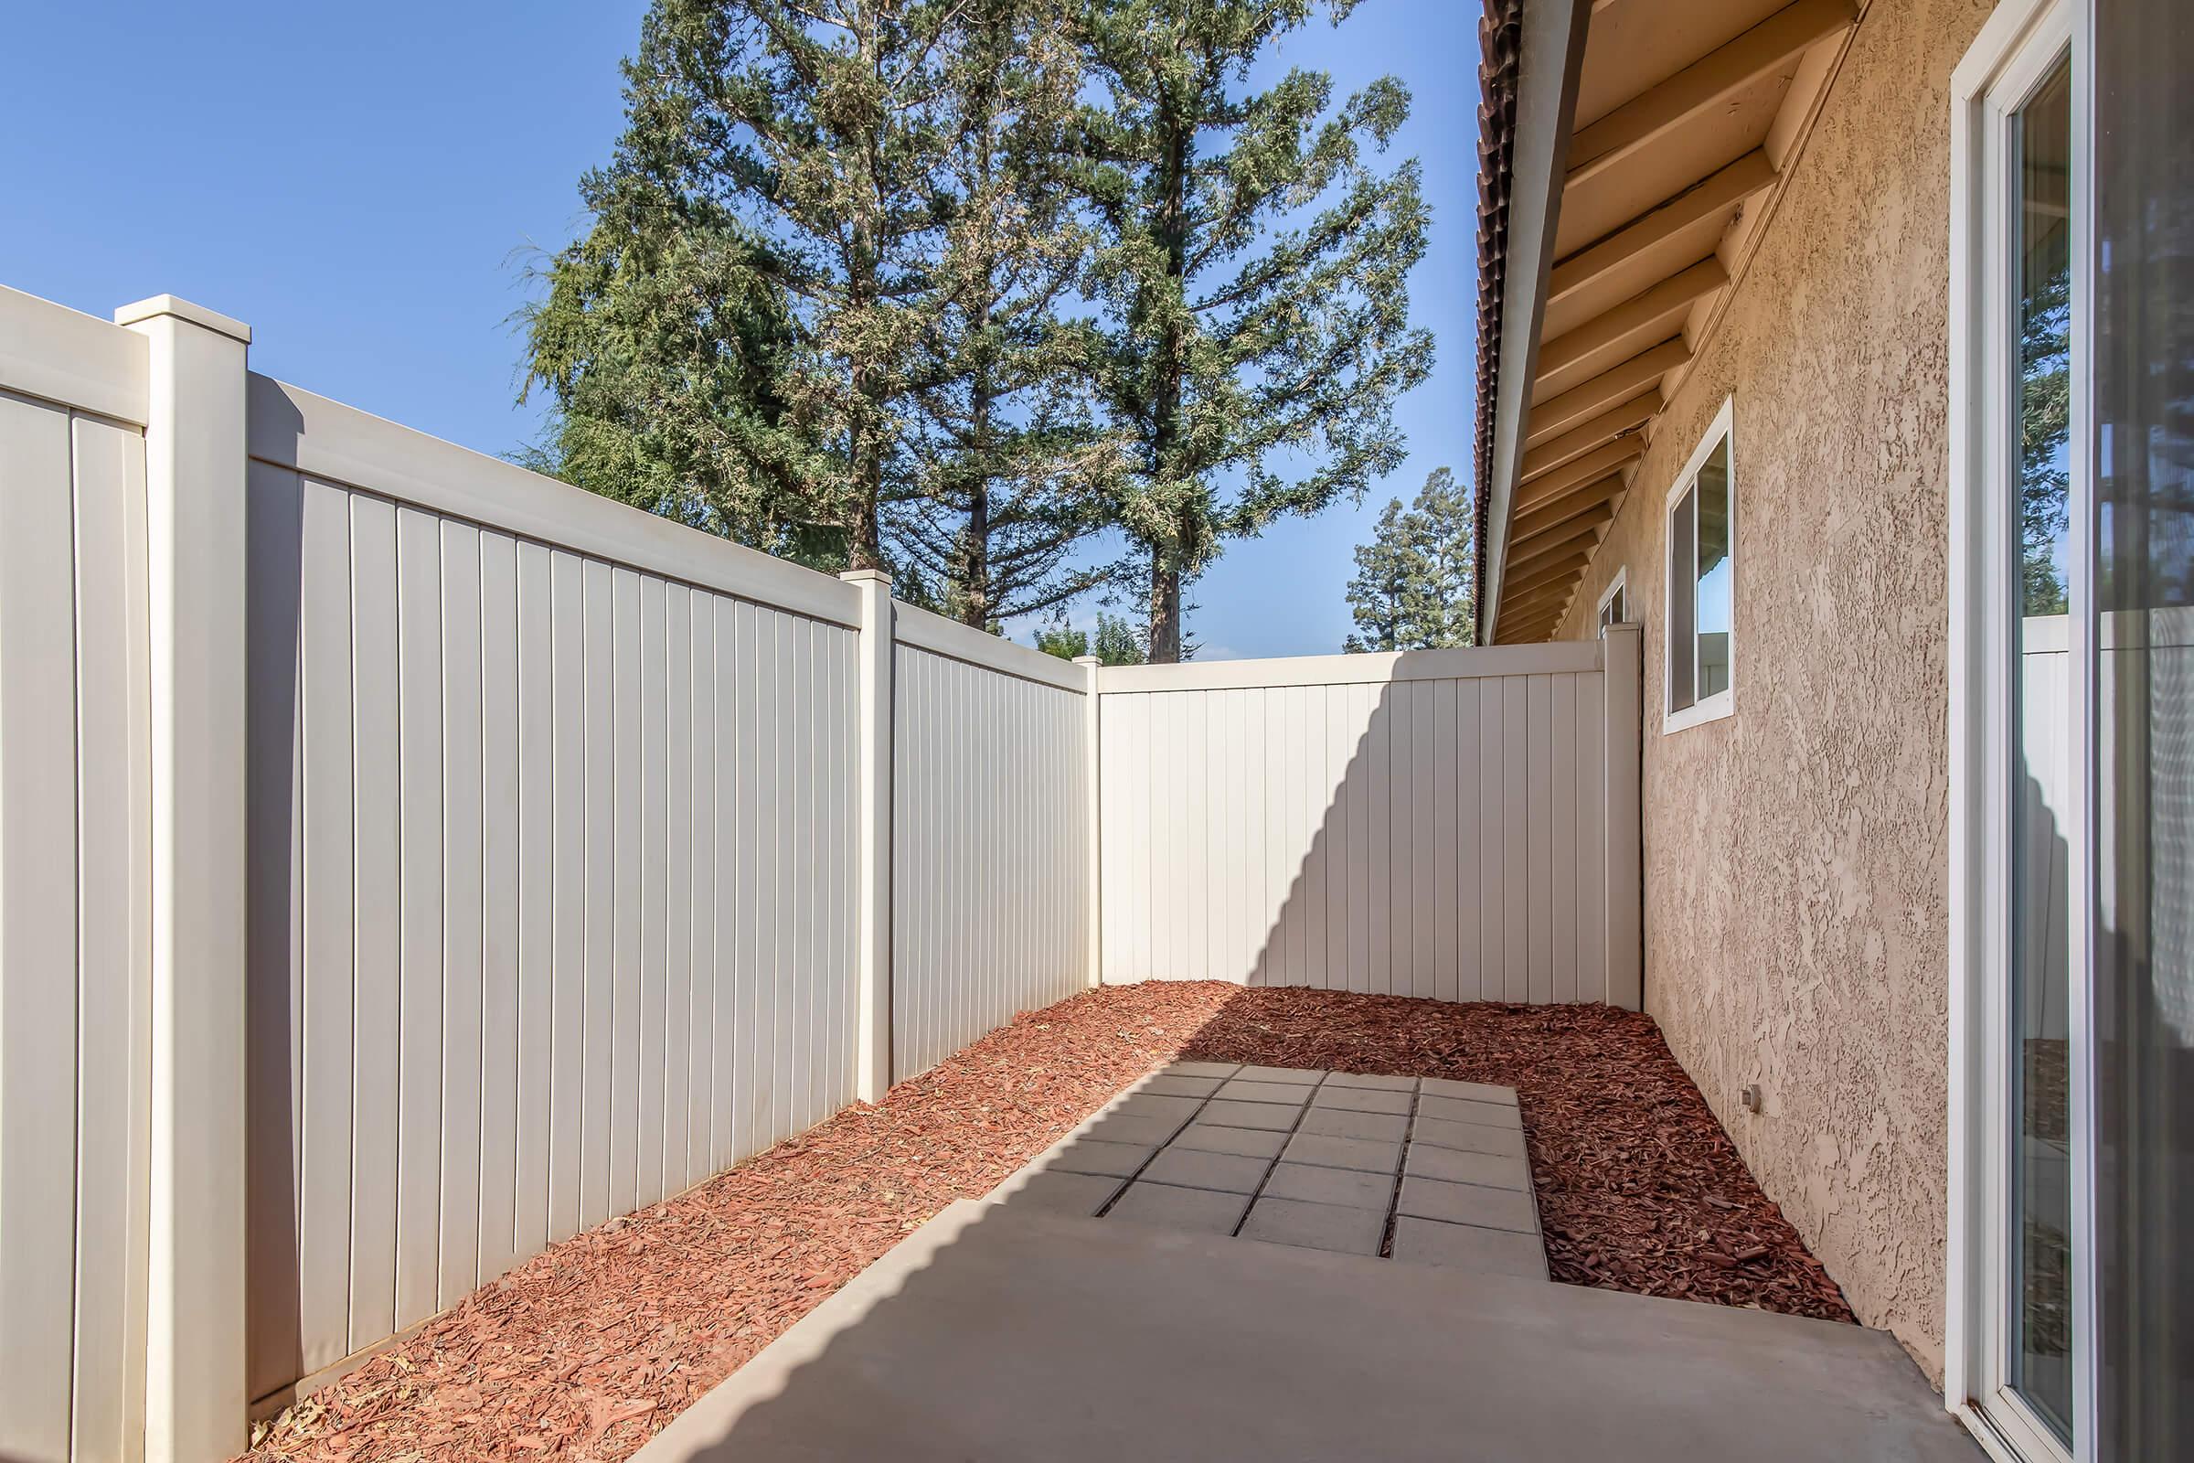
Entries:
<svg viewBox="0 0 2194 1463">
<path fill-rule="evenodd" d="M 257 1428 L 248 1459 L 625 1459 L 902 1235 L 1176 1055 L 1518 1090 L 1553 1277 L 1850 1320 L 1646 1016 L 1108 987 L 535 1255 Z"/>
</svg>

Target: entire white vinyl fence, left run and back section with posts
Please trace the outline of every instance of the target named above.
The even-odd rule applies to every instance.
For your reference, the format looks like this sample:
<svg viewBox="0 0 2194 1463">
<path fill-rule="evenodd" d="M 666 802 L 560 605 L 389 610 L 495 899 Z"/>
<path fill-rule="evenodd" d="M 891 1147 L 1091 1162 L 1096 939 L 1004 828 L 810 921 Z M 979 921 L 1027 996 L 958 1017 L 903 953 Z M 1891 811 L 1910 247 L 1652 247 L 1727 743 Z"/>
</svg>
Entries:
<svg viewBox="0 0 2194 1463">
<path fill-rule="evenodd" d="M 1066 665 L 0 290 L 0 1456 L 204 1463 L 1042 1007 L 1637 1005 L 1637 636 Z"/>
</svg>

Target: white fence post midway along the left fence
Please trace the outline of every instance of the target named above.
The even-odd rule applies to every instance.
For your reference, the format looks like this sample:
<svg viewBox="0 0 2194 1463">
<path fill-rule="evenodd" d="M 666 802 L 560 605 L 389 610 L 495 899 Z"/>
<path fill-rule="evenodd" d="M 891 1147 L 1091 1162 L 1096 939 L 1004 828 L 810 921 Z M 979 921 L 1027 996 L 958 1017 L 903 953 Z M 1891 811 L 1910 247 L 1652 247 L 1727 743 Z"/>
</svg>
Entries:
<svg viewBox="0 0 2194 1463">
<path fill-rule="evenodd" d="M 853 1000 L 860 1027 L 853 1048 L 853 1097 L 880 1101 L 891 1090 L 891 575 L 849 568 L 838 575 L 860 590 L 860 937 L 853 956 Z"/>
</svg>

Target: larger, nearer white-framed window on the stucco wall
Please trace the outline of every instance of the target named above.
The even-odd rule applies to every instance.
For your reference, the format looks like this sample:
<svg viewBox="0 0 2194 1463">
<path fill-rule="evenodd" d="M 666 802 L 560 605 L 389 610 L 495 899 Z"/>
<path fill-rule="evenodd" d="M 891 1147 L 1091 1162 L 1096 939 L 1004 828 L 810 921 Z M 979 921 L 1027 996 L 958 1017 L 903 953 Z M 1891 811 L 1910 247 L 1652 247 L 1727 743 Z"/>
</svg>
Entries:
<svg viewBox="0 0 2194 1463">
<path fill-rule="evenodd" d="M 1731 456 L 1735 401 L 1667 491 L 1667 717 L 1663 733 L 1727 717 L 1738 572 L 1738 483 Z"/>
</svg>

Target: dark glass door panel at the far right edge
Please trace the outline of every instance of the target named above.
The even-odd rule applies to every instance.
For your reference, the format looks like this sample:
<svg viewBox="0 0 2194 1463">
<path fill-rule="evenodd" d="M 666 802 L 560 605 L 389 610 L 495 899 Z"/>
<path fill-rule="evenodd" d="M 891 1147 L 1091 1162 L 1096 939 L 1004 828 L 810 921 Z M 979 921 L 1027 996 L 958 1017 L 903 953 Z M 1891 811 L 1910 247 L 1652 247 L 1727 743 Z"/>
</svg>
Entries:
<svg viewBox="0 0 2194 1463">
<path fill-rule="evenodd" d="M 2194 1459 L 2194 4 L 2093 24 L 2089 1456 Z"/>
</svg>

